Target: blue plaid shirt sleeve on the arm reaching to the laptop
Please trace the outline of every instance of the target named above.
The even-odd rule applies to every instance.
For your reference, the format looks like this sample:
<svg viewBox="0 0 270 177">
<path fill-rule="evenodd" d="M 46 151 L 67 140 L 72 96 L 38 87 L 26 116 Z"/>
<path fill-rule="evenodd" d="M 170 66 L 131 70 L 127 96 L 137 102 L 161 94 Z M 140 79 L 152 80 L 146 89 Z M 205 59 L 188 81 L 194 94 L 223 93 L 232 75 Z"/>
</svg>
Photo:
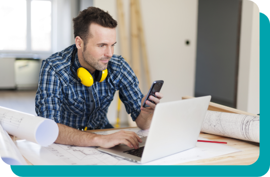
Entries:
<svg viewBox="0 0 270 177">
<path fill-rule="evenodd" d="M 62 123 L 60 118 L 61 91 L 61 82 L 56 72 L 46 60 L 43 60 L 35 98 L 35 110 L 38 116 L 51 119 L 56 123 Z"/>
</svg>

